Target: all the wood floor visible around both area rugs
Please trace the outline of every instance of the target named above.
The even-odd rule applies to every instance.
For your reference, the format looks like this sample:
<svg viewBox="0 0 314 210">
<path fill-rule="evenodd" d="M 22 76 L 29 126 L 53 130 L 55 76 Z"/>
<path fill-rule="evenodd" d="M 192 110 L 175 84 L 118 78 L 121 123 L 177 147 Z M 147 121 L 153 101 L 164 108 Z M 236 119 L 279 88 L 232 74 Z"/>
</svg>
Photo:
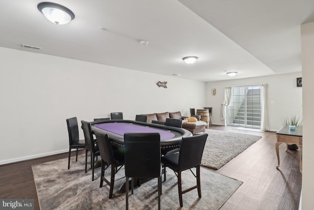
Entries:
<svg viewBox="0 0 314 210">
<path fill-rule="evenodd" d="M 210 129 L 262 135 L 262 139 L 222 168 L 212 170 L 243 181 L 221 210 L 297 210 L 302 182 L 299 171 L 300 151 L 286 152 L 285 144 L 280 145 L 281 165 L 276 169 L 274 132 L 258 133 L 234 128 L 213 125 Z M 66 158 L 67 155 L 63 153 L 0 166 L 0 198 L 33 198 L 34 209 L 39 210 L 31 165 Z"/>
</svg>

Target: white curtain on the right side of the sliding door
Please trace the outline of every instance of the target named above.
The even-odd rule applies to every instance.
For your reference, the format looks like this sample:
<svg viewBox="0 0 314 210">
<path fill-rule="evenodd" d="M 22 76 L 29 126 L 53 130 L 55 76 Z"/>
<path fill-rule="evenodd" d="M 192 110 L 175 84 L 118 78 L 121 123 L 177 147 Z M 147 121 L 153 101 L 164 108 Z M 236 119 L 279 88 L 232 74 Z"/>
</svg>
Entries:
<svg viewBox="0 0 314 210">
<path fill-rule="evenodd" d="M 269 130 L 268 124 L 268 84 L 262 84 L 261 130 Z"/>
</svg>

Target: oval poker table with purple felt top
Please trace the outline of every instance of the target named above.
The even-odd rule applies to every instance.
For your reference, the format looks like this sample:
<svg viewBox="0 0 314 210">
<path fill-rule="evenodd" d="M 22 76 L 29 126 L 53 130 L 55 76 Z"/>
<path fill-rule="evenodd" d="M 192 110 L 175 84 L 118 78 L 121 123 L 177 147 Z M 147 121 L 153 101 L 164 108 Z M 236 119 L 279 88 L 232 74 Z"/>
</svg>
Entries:
<svg viewBox="0 0 314 210">
<path fill-rule="evenodd" d="M 192 136 L 190 131 L 183 128 L 134 120 L 104 120 L 90 123 L 94 134 L 107 133 L 111 143 L 118 147 L 124 147 L 125 133 L 159 133 L 162 149 L 178 147 L 182 137 Z"/>
</svg>

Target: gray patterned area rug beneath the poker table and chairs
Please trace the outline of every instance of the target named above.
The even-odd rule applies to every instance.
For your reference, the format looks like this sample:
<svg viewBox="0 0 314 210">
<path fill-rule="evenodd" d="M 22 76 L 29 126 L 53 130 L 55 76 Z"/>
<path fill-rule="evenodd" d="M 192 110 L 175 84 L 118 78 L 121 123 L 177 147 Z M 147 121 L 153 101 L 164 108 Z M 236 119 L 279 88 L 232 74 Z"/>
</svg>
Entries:
<svg viewBox="0 0 314 210">
<path fill-rule="evenodd" d="M 85 155 L 79 155 L 78 162 L 73 157 L 69 170 L 67 158 L 32 166 L 41 210 L 125 210 L 125 193 L 119 192 L 125 182 L 124 169 L 116 174 L 113 197 L 108 199 L 109 186 L 104 181 L 104 186 L 99 187 L 100 168 L 95 169 L 95 180 L 92 181 L 91 169 L 85 174 L 84 161 Z M 110 180 L 109 168 L 105 173 Z M 183 189 L 196 184 L 189 170 L 182 176 Z M 198 198 L 197 189 L 187 192 L 183 194 L 183 208 L 180 208 L 178 179 L 167 168 L 167 180 L 162 182 L 161 209 L 218 210 L 241 184 L 242 181 L 201 168 L 202 198 Z M 157 209 L 157 179 L 135 188 L 133 195 L 130 190 L 129 208 Z"/>
</svg>

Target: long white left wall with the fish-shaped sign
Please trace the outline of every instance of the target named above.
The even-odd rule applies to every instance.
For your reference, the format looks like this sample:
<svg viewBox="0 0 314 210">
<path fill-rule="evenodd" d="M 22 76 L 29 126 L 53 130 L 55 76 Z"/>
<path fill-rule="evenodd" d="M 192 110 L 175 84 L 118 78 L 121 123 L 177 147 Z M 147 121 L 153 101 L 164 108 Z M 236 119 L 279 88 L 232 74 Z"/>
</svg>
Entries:
<svg viewBox="0 0 314 210">
<path fill-rule="evenodd" d="M 0 48 L 0 58 L 0 164 L 67 151 L 67 118 L 80 124 L 110 112 L 131 120 L 166 111 L 189 116 L 190 107 L 205 104 L 203 82 L 8 48 Z"/>
</svg>

